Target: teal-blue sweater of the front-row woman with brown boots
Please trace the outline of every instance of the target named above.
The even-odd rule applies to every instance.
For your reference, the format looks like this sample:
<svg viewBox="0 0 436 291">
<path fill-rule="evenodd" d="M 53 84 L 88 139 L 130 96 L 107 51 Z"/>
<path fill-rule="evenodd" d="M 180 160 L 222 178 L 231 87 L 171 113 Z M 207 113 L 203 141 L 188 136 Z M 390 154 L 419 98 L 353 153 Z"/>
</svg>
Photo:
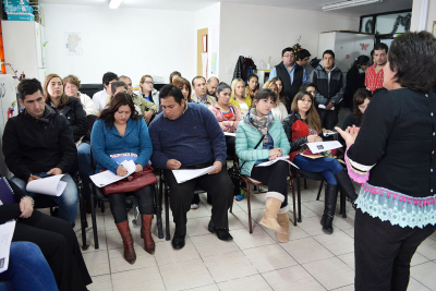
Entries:
<svg viewBox="0 0 436 291">
<path fill-rule="evenodd" d="M 90 147 L 93 148 L 93 157 L 97 161 L 96 173 L 102 169 L 117 173 L 119 165 L 109 155 L 136 154 L 135 163 L 141 163 L 144 168 L 153 153 L 148 129 L 143 119 L 129 119 L 124 136 L 121 136 L 116 125 L 110 129 L 105 124 L 105 121 L 97 120 L 90 133 Z"/>
</svg>

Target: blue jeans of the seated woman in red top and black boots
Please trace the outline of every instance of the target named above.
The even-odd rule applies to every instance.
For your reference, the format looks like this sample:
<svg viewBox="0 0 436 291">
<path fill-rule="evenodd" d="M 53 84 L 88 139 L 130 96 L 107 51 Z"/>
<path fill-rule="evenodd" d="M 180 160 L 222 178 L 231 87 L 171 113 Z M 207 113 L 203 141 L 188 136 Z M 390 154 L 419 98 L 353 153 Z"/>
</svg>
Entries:
<svg viewBox="0 0 436 291">
<path fill-rule="evenodd" d="M 317 158 L 311 159 L 296 155 L 293 159 L 293 163 L 299 166 L 300 169 L 306 172 L 322 173 L 326 178 L 327 184 L 337 185 L 335 174 L 343 170 L 343 167 L 334 158 Z"/>
</svg>

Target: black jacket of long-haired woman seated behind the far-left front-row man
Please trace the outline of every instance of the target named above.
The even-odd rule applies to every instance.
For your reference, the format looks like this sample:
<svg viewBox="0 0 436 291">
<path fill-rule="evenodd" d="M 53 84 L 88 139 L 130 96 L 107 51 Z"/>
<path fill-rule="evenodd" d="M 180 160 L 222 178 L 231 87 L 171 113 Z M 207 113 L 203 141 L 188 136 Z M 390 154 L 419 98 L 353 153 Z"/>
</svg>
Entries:
<svg viewBox="0 0 436 291">
<path fill-rule="evenodd" d="M 62 108 L 61 112 L 53 108 L 60 116 L 64 116 L 73 128 L 74 143 L 85 135 L 84 140 L 89 141 L 88 122 L 86 120 L 86 112 L 77 98 L 69 97 L 69 100 Z"/>
</svg>

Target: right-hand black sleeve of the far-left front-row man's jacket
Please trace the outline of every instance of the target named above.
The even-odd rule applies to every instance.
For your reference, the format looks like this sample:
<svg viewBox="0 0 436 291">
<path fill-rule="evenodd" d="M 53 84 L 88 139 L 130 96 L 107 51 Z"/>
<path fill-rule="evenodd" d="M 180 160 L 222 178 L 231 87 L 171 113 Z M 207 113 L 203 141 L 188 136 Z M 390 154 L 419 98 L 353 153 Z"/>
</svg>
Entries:
<svg viewBox="0 0 436 291">
<path fill-rule="evenodd" d="M 56 166 L 61 169 L 63 173 L 69 172 L 77 158 L 77 149 L 73 140 L 73 128 L 64 117 L 57 117 L 57 122 L 60 124 L 59 131 L 59 146 L 61 150 L 61 159 Z"/>
</svg>

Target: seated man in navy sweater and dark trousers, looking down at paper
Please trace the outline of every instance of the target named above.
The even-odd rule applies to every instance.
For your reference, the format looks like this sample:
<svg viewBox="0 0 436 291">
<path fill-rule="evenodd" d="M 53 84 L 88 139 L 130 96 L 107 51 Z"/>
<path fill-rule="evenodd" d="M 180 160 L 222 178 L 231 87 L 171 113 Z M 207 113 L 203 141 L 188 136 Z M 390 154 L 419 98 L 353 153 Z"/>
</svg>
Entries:
<svg viewBox="0 0 436 291">
<path fill-rule="evenodd" d="M 186 234 L 186 213 L 195 185 L 204 189 L 214 201 L 210 232 L 218 239 L 232 240 L 227 210 L 233 197 L 233 184 L 226 172 L 226 140 L 214 114 L 204 106 L 186 104 L 180 88 L 165 85 L 159 94 L 164 109 L 149 125 L 153 143 L 152 162 L 165 169 L 171 191 L 170 206 L 175 232 L 172 247 L 182 248 Z M 202 169 L 217 166 L 208 174 L 178 183 L 172 170 Z"/>
</svg>

